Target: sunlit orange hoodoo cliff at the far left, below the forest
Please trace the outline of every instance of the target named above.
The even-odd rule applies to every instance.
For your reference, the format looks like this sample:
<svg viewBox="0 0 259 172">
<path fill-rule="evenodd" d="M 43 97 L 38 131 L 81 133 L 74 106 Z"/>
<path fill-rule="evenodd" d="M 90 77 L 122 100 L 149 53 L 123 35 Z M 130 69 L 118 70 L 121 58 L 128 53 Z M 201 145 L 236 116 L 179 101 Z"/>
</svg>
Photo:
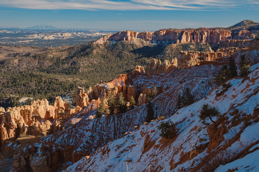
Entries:
<svg viewBox="0 0 259 172">
<path fill-rule="evenodd" d="M 69 118 L 80 110 L 80 107 L 69 109 L 69 104 L 61 97 L 56 97 L 53 106 L 43 99 L 33 101 L 30 106 L 8 108 L 6 112 L 1 108 L 1 142 L 5 145 L 6 141 L 15 141 L 20 134 L 46 136 L 55 133 L 62 130 L 62 122 L 54 119 Z"/>
</svg>

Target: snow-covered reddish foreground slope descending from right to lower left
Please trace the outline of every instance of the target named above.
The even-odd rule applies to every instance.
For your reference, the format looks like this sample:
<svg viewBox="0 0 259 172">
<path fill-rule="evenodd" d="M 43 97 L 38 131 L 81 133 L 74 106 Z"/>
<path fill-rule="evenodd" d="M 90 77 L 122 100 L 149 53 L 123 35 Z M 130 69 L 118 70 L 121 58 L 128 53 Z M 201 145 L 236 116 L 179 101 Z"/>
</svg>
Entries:
<svg viewBox="0 0 259 172">
<path fill-rule="evenodd" d="M 247 77 L 227 81 L 229 88 L 217 87 L 169 118 L 140 125 L 66 171 L 256 171 L 257 160 L 247 158 L 259 155 L 259 64 L 251 70 Z M 165 93 L 170 94 L 170 90 Z M 198 117 L 205 103 L 221 112 L 210 126 L 204 126 Z M 138 111 L 137 116 L 142 112 Z M 168 120 L 175 123 L 177 130 L 170 140 L 160 137 L 157 128 Z"/>
</svg>

